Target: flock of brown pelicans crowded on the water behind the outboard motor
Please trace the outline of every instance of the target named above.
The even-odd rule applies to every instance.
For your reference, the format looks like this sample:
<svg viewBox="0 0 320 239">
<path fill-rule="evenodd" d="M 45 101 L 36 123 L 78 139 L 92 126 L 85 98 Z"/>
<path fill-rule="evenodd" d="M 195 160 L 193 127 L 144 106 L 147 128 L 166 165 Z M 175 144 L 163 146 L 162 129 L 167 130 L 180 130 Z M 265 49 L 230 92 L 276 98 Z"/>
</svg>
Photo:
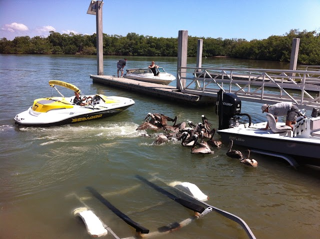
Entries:
<svg viewBox="0 0 320 239">
<path fill-rule="evenodd" d="M 168 140 L 181 141 L 181 145 L 184 147 L 191 147 L 191 153 L 197 154 L 212 154 L 214 151 L 211 147 L 220 148 L 222 142 L 213 139 L 215 134 L 215 128 L 212 128 L 212 124 L 202 114 L 202 122 L 194 124 L 191 121 L 176 123 L 177 116 L 170 118 L 162 113 L 148 113 L 144 118 L 144 122 L 139 125 L 136 130 L 151 129 L 154 131 L 162 130 L 164 133 L 157 134 L 157 137 L 153 144 L 162 144 Z M 172 122 L 172 125 L 167 123 Z M 151 136 L 144 134 L 144 136 Z M 256 167 L 257 161 L 250 159 L 250 150 L 247 149 L 246 158 L 243 157 L 239 150 L 231 150 L 233 140 L 230 140 L 229 149 L 226 155 L 232 158 L 237 158 L 241 163 Z"/>
</svg>

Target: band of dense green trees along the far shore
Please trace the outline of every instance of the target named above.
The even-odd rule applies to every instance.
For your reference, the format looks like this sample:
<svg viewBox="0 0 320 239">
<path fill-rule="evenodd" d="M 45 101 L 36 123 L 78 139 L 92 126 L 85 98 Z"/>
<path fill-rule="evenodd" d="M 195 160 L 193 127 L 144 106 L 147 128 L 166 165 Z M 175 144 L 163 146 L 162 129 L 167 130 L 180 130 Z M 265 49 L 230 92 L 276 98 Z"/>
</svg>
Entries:
<svg viewBox="0 0 320 239">
<path fill-rule="evenodd" d="M 298 63 L 320 65 L 320 35 L 316 31 L 291 29 L 266 39 L 222 39 L 188 36 L 188 56 L 196 56 L 197 40 L 203 39 L 203 56 L 289 61 L 293 38 L 300 38 Z M 46 38 L 17 36 L 0 39 L 0 53 L 6 54 L 96 54 L 96 34 L 60 34 L 50 31 Z M 134 32 L 126 36 L 103 34 L 103 54 L 176 56 L 177 38 L 153 37 Z"/>
</svg>

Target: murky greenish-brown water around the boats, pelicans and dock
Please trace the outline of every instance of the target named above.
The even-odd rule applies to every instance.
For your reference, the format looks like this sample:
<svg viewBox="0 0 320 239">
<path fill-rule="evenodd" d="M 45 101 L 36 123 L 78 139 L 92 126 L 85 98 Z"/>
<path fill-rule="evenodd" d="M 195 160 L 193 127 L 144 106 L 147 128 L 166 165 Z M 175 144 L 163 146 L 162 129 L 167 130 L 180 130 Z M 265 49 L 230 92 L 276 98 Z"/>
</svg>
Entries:
<svg viewBox="0 0 320 239">
<path fill-rule="evenodd" d="M 154 60 L 167 72 L 176 73 L 174 57 L 127 58 L 128 68 L 145 67 Z M 104 57 L 104 74 L 116 74 L 118 59 Z M 228 158 L 227 145 L 215 149 L 213 155 L 193 155 L 178 141 L 153 145 L 157 132 L 135 130 L 148 112 L 195 123 L 204 114 L 216 126 L 213 105 L 189 107 L 92 83 L 89 74 L 96 74 L 95 56 L 0 55 L 0 62 L 0 238 L 90 238 L 71 214 L 83 206 L 75 195 L 119 237 L 134 235 L 134 229 L 93 198 L 87 186 L 150 231 L 191 216 L 192 211 L 135 177 L 151 179 L 152 173 L 166 182 L 195 183 L 209 196 L 208 204 L 241 217 L 256 238 L 319 238 L 317 170 L 295 170 L 285 161 L 254 153 L 251 156 L 258 167 L 251 168 Z M 188 58 L 188 65 L 195 66 L 195 58 Z M 286 63 L 230 58 L 204 58 L 202 66 L 288 68 Z M 129 97 L 135 104 L 101 120 L 16 127 L 15 114 L 26 110 L 35 98 L 51 96 L 51 79 L 75 84 L 86 94 Z M 252 114 L 253 120 L 264 120 L 259 104 L 242 102 L 241 111 Z M 161 205 L 154 206 L 157 203 Z M 146 207 L 150 208 L 141 212 Z M 157 238 L 247 236 L 237 223 L 213 211 Z"/>
</svg>

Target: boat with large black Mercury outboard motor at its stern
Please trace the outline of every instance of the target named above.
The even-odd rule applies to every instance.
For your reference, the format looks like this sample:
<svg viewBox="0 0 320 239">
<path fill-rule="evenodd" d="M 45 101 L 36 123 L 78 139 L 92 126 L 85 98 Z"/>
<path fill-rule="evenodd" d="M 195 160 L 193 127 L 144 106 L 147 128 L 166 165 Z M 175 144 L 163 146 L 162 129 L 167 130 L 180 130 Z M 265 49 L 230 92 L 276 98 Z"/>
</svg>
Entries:
<svg viewBox="0 0 320 239">
<path fill-rule="evenodd" d="M 303 110 L 301 110 L 303 111 Z M 272 155 L 287 160 L 296 167 L 299 164 L 320 166 L 320 107 L 314 107 L 311 115 L 302 112 L 291 130 L 285 123 L 276 122 L 266 113 L 268 121 L 252 123 L 251 115 L 241 113 L 241 100 L 233 93 L 222 90 L 217 98 L 218 130 L 222 141 L 250 148 L 252 152 Z M 246 120 L 240 123 L 240 118 Z M 268 122 L 269 129 L 265 128 Z"/>
</svg>

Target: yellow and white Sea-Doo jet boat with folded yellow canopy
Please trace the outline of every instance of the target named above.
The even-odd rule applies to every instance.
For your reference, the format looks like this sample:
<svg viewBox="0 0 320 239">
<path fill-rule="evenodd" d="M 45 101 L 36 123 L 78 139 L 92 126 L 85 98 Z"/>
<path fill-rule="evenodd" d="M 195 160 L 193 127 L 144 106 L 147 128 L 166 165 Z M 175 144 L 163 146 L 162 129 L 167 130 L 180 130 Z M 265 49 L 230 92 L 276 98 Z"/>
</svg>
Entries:
<svg viewBox="0 0 320 239">
<path fill-rule="evenodd" d="M 105 118 L 120 113 L 134 104 L 132 99 L 126 97 L 93 94 L 86 96 L 92 97 L 90 104 L 80 106 L 73 103 L 75 96 L 64 97 L 55 85 L 72 89 L 83 96 L 78 87 L 60 80 L 50 80 L 49 85 L 55 88 L 61 97 L 35 99 L 32 106 L 15 115 L 16 124 L 22 126 L 52 126 Z"/>
</svg>

